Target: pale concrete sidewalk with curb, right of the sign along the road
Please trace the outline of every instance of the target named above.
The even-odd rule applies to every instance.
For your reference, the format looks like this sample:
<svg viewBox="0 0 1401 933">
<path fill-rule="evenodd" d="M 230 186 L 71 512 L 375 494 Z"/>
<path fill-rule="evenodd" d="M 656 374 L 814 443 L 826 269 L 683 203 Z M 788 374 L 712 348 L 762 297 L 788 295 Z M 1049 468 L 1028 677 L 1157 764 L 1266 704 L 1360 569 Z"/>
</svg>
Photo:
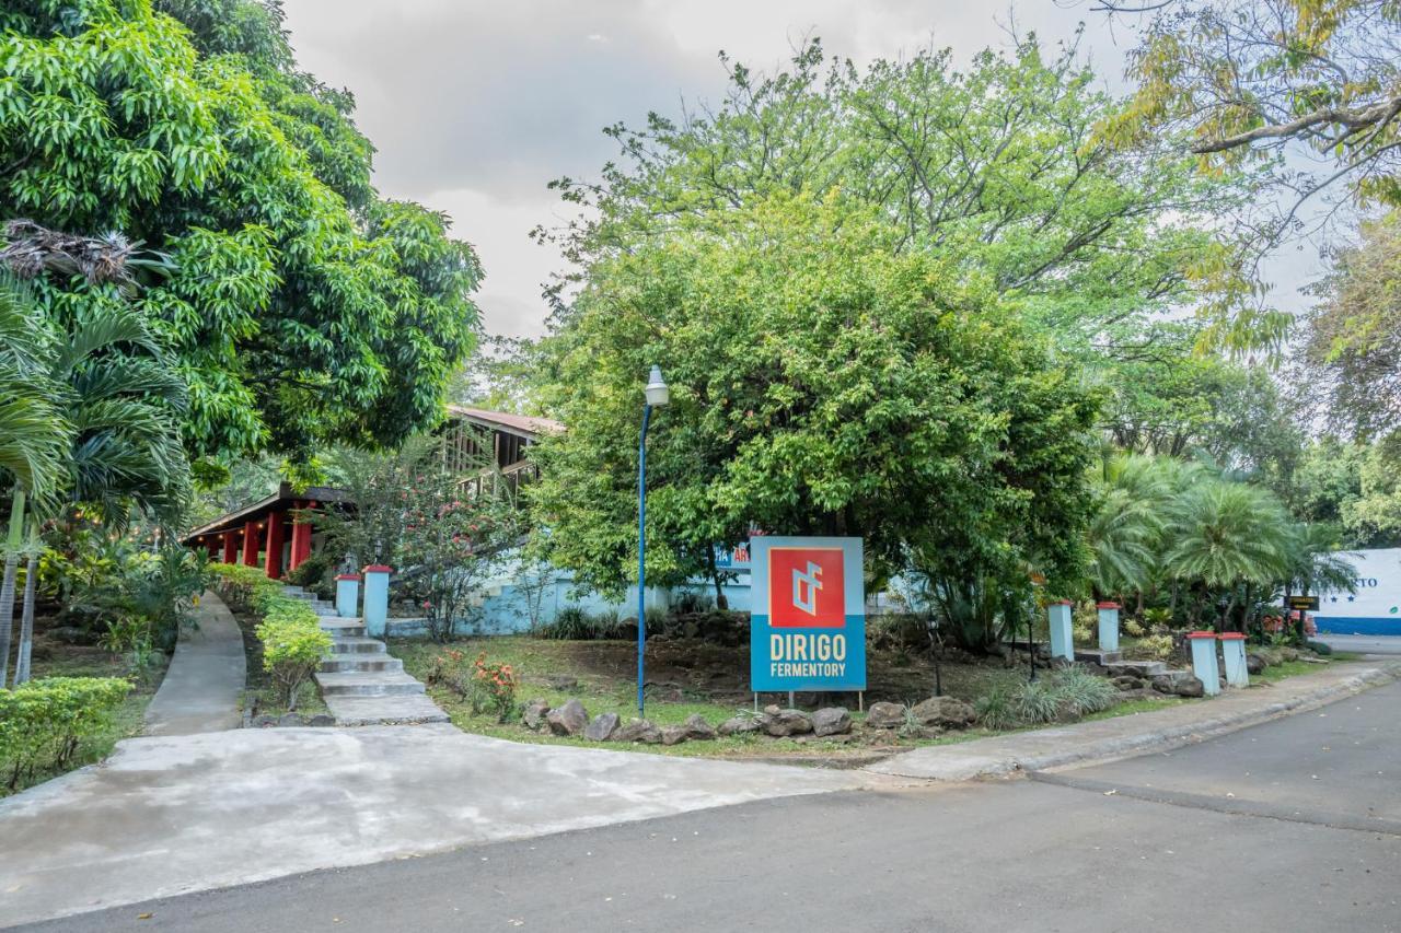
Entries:
<svg viewBox="0 0 1401 933">
<path fill-rule="evenodd" d="M 1210 700 L 1056 728 L 916 748 L 866 770 L 930 780 L 971 780 L 1019 770 L 1136 755 L 1234 731 L 1290 712 L 1331 703 L 1401 677 L 1401 663 L 1332 664 L 1279 684 L 1257 681 Z"/>
</svg>

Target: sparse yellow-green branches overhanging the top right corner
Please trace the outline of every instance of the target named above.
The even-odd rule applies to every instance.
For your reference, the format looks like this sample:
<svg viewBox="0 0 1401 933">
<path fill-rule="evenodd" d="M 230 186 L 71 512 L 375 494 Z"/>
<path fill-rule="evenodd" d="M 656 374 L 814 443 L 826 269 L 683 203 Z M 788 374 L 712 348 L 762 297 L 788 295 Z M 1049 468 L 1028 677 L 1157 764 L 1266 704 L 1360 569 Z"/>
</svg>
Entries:
<svg viewBox="0 0 1401 933">
<path fill-rule="evenodd" d="M 1290 182 L 1304 198 L 1345 179 L 1360 200 L 1401 205 L 1401 7 L 1391 0 L 1184 0 L 1147 8 L 1159 13 L 1129 59 L 1139 90 L 1131 106 L 1104 122 L 1105 137 L 1181 129 L 1212 171 L 1245 161 L 1279 165 L 1282 153 L 1300 147 L 1332 170 L 1323 179 Z"/>
</svg>

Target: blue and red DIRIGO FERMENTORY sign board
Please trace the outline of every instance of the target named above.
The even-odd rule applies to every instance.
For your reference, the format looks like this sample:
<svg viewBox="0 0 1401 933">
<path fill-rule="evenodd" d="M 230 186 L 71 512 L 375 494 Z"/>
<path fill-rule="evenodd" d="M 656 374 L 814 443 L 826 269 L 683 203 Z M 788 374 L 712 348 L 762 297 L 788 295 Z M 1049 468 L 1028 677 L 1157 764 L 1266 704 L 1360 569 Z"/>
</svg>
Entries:
<svg viewBox="0 0 1401 933">
<path fill-rule="evenodd" d="M 750 542 L 750 689 L 866 689 L 866 580 L 860 538 Z"/>
</svg>

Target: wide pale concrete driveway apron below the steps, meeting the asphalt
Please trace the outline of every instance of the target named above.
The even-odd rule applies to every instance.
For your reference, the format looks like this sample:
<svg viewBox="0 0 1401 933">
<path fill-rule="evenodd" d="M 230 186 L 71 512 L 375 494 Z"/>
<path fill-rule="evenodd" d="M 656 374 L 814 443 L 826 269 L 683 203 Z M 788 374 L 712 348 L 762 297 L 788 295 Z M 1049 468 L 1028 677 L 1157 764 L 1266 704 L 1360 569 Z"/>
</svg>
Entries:
<svg viewBox="0 0 1401 933">
<path fill-rule="evenodd" d="M 133 738 L 0 800 L 0 923 L 878 780 L 443 724 Z"/>
</svg>

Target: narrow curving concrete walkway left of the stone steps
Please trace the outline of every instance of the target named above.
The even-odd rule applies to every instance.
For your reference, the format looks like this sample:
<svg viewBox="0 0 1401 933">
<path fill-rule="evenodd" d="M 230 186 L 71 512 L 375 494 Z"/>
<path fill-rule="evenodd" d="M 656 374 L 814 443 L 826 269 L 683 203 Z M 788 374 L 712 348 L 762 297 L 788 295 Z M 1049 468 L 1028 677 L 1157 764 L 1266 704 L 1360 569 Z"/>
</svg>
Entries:
<svg viewBox="0 0 1401 933">
<path fill-rule="evenodd" d="M 193 735 L 238 728 L 247 682 L 244 637 L 228 607 L 206 591 L 198 629 L 182 629 L 165 679 L 146 707 L 147 735 Z"/>
</svg>

